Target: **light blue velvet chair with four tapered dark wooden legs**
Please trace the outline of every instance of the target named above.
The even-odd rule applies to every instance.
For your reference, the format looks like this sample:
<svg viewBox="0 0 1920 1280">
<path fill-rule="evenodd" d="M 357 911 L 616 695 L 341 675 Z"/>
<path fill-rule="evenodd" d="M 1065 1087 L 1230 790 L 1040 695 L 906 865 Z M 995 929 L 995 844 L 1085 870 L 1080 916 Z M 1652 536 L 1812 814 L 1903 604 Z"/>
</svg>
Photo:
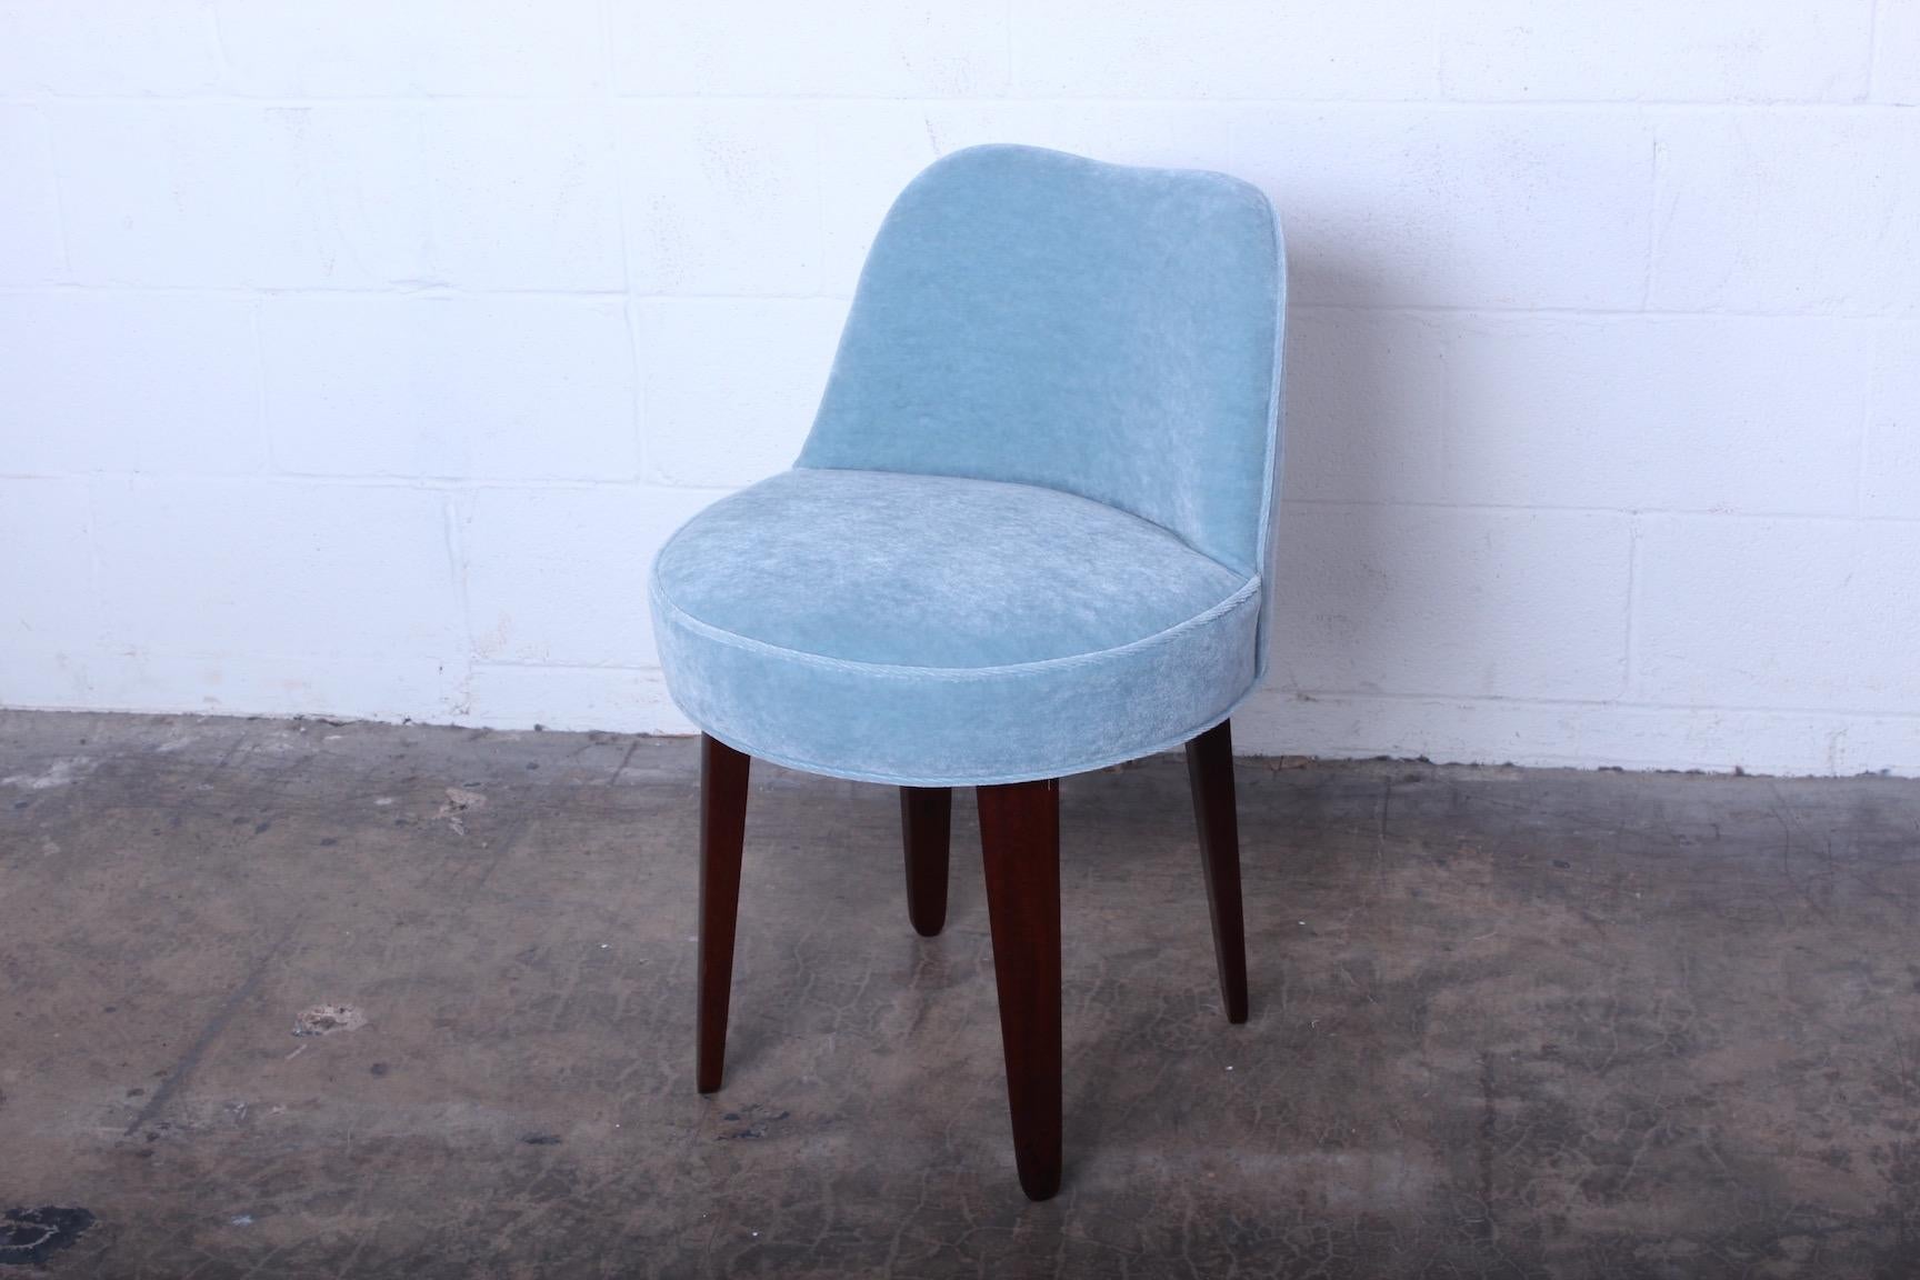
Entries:
<svg viewBox="0 0 1920 1280">
<path fill-rule="evenodd" d="M 1187 745 L 1246 1021 L 1227 718 L 1271 633 L 1283 311 L 1273 209 L 1215 173 L 981 146 L 895 201 L 799 462 L 653 566 L 666 683 L 705 731 L 701 1092 L 751 756 L 902 789 L 924 935 L 947 912 L 948 789 L 977 789 L 1031 1197 L 1060 1184 L 1062 775 Z"/>
</svg>

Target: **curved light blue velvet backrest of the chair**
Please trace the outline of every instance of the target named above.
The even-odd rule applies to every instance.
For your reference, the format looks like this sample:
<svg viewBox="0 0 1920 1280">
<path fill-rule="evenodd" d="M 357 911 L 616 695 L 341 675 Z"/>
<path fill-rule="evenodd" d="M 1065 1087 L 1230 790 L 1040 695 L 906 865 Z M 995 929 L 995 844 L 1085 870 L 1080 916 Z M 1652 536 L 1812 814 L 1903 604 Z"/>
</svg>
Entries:
<svg viewBox="0 0 1920 1280">
<path fill-rule="evenodd" d="M 887 213 L 799 466 L 1064 489 L 1267 574 L 1283 307 L 1246 182 L 956 152 Z"/>
</svg>

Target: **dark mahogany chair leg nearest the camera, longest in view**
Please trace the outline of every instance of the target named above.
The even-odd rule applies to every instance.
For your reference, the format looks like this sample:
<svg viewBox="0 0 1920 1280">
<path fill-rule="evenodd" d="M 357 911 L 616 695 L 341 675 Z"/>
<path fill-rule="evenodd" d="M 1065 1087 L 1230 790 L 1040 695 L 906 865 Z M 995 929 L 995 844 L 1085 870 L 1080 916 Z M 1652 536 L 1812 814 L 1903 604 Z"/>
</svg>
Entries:
<svg viewBox="0 0 1920 1280">
<path fill-rule="evenodd" d="M 1029 1199 L 1060 1190 L 1060 783 L 979 789 L 993 977 L 1014 1161 Z"/>
</svg>

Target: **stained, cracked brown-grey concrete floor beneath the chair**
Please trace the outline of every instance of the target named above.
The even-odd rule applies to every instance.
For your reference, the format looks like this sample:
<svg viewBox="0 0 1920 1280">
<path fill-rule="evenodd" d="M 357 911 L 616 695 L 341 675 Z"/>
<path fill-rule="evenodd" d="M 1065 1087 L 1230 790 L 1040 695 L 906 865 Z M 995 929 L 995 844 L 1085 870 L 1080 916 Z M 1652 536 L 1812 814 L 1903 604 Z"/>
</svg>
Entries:
<svg viewBox="0 0 1920 1280">
<path fill-rule="evenodd" d="M 1229 1027 L 1181 762 L 1069 779 L 1029 1205 L 972 804 L 920 940 L 895 796 L 755 768 L 708 1102 L 695 777 L 672 739 L 0 714 L 0 1209 L 73 1211 L 0 1257 L 1920 1276 L 1916 783 L 1244 760 Z"/>
</svg>

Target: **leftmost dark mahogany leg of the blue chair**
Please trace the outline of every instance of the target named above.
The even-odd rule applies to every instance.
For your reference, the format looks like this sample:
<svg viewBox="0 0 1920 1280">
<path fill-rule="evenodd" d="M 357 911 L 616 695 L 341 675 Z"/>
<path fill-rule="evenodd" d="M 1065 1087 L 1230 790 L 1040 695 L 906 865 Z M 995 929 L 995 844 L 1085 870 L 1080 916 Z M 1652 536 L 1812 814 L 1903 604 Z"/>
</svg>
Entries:
<svg viewBox="0 0 1920 1280">
<path fill-rule="evenodd" d="M 726 743 L 701 735 L 701 1019 L 695 1080 L 720 1088 L 726 1067 L 726 1006 L 733 986 L 733 919 L 739 912 L 739 850 L 747 839 L 747 766 Z"/>
</svg>

